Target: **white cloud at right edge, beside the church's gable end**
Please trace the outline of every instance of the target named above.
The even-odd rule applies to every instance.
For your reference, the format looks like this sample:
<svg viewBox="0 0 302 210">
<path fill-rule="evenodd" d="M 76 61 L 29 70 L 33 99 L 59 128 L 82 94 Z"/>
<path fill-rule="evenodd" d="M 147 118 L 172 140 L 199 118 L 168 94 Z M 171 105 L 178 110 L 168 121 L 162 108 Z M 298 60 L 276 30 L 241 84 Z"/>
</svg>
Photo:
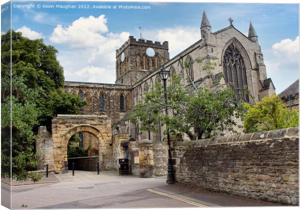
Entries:
<svg viewBox="0 0 302 210">
<path fill-rule="evenodd" d="M 270 59 L 265 61 L 267 77 L 271 77 L 276 93 L 282 92 L 299 78 L 299 36 L 272 45 Z"/>
</svg>

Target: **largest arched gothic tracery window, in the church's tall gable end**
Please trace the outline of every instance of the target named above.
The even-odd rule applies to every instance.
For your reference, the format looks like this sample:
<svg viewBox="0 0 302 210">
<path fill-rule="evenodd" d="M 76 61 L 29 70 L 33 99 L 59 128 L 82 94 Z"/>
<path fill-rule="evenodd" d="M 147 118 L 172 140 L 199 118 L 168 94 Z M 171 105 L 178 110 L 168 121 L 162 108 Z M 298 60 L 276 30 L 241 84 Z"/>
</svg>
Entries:
<svg viewBox="0 0 302 210">
<path fill-rule="evenodd" d="M 239 49 L 230 44 L 224 54 L 224 75 L 226 83 L 232 83 L 235 94 L 240 95 L 245 101 L 249 101 L 247 89 L 246 67 Z"/>
</svg>

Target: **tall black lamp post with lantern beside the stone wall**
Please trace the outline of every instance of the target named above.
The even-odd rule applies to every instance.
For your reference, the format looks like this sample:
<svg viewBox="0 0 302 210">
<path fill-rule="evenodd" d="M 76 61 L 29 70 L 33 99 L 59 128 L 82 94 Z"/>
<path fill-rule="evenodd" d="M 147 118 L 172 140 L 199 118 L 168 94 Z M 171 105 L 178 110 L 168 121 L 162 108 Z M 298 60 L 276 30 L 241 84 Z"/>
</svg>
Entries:
<svg viewBox="0 0 302 210">
<path fill-rule="evenodd" d="M 165 91 L 165 103 L 167 104 L 167 79 L 169 77 L 170 70 L 167 70 L 166 67 L 162 66 L 159 71 L 159 76 L 164 82 L 164 91 Z M 168 115 L 168 108 L 166 107 L 166 115 Z M 170 145 L 170 133 L 167 134 L 168 139 L 168 178 L 167 183 L 173 184 L 174 181 L 174 172 L 173 172 L 173 165 L 172 165 L 172 156 L 171 156 L 171 145 Z"/>
</svg>

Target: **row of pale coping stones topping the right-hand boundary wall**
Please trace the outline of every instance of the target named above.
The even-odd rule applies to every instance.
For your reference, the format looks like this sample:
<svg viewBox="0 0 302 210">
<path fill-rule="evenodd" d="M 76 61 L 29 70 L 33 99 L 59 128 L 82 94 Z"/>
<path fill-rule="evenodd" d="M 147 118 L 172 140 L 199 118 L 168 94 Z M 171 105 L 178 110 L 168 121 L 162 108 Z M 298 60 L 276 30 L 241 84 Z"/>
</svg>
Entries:
<svg viewBox="0 0 302 210">
<path fill-rule="evenodd" d="M 237 134 L 227 137 L 215 137 L 212 139 L 193 140 L 193 141 L 177 141 L 173 142 L 173 146 L 194 146 L 194 145 L 209 145 L 229 142 L 244 142 L 250 140 L 270 140 L 281 139 L 284 137 L 299 136 L 299 127 L 290 127 L 276 129 L 271 131 L 263 131 L 256 133 Z"/>
</svg>

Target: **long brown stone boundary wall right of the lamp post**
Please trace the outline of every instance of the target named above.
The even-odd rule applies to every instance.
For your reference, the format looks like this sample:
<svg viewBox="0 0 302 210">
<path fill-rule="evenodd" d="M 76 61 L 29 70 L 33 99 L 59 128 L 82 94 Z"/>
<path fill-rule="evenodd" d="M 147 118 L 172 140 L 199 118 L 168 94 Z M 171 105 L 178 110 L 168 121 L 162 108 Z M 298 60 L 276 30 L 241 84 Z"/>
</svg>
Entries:
<svg viewBox="0 0 302 210">
<path fill-rule="evenodd" d="M 299 205 L 299 128 L 174 142 L 177 182 Z"/>
</svg>

